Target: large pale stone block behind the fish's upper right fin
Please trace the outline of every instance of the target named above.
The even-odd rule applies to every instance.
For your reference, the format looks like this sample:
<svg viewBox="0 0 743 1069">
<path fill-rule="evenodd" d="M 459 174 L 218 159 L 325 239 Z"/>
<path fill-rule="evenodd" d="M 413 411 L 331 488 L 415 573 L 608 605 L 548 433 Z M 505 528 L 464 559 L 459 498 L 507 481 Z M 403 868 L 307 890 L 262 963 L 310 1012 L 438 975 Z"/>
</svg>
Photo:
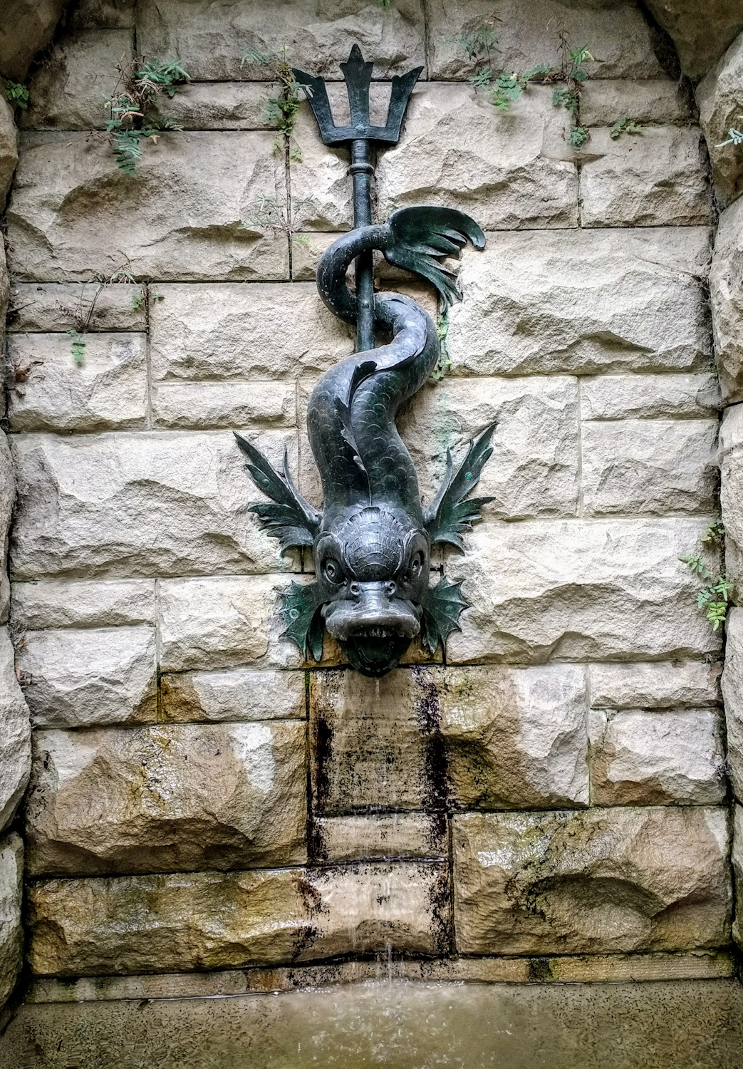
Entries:
<svg viewBox="0 0 743 1069">
<path fill-rule="evenodd" d="M 577 384 L 574 378 L 445 378 L 425 387 L 399 427 L 431 499 L 446 472 L 447 450 L 497 420 L 494 452 L 478 494 L 490 515 L 574 515 L 578 493 Z"/>
</svg>

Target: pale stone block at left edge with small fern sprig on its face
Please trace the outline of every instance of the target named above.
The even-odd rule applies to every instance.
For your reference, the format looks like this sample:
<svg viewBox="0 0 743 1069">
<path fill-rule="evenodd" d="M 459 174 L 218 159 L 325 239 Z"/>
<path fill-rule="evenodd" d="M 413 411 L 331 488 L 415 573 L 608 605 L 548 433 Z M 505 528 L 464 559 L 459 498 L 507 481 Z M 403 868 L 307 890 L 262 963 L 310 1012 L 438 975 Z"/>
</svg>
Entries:
<svg viewBox="0 0 743 1069">
<path fill-rule="evenodd" d="M 14 334 L 7 340 L 24 381 L 7 394 L 12 431 L 108 431 L 143 427 L 148 412 L 146 336 Z M 28 376 L 25 369 L 29 370 Z"/>
</svg>

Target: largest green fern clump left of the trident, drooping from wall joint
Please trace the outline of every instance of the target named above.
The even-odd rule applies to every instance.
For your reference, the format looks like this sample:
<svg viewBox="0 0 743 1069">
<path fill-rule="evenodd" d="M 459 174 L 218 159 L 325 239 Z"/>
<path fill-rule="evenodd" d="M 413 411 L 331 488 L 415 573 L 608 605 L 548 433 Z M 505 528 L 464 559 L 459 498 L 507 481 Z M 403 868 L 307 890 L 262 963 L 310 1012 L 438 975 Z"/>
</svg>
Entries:
<svg viewBox="0 0 743 1069">
<path fill-rule="evenodd" d="M 112 96 L 106 98 L 106 129 L 113 155 L 124 174 L 137 173 L 142 156 L 142 142 L 157 141 L 161 130 L 183 127 L 172 119 L 156 114 L 155 102 L 165 94 L 174 96 L 183 82 L 190 81 L 179 60 L 145 60 L 143 57 L 118 67 L 120 77 Z"/>
</svg>

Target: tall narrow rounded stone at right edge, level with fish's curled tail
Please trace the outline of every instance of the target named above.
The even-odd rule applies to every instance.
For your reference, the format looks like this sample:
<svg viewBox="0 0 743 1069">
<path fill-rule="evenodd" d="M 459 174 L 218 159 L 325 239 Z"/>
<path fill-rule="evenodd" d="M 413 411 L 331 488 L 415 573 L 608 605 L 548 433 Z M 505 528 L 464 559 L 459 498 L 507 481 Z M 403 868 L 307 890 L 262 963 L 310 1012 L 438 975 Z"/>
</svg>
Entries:
<svg viewBox="0 0 743 1069">
<path fill-rule="evenodd" d="M 731 404 L 743 401 L 743 198 L 719 217 L 710 300 L 719 385 Z"/>
</svg>

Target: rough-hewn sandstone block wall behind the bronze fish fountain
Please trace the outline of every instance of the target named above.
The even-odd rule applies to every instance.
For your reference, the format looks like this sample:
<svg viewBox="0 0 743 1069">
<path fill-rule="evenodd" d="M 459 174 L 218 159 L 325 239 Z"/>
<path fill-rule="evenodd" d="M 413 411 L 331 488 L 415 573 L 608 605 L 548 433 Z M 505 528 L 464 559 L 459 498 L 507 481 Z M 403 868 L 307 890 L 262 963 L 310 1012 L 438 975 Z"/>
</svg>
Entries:
<svg viewBox="0 0 743 1069">
<path fill-rule="evenodd" d="M 634 2 L 498 5 L 507 68 L 554 63 L 560 30 L 597 58 L 581 152 L 546 87 L 499 113 L 447 44 L 492 9 L 83 0 L 35 68 L 6 213 L 35 976 L 375 956 L 462 975 L 514 957 L 532 977 L 554 957 L 561 978 L 618 975 L 624 955 L 633 975 L 730 970 L 725 740 L 737 791 L 743 609 L 726 731 L 723 636 L 679 557 L 719 516 L 722 455 L 740 567 L 743 168 L 715 151 L 711 181 L 690 84 Z M 719 51 L 741 28 L 723 22 Z M 740 93 L 740 40 L 697 90 L 711 141 Z M 451 367 L 401 419 L 424 495 L 447 449 L 498 420 L 485 520 L 464 556 L 436 560 L 471 602 L 462 631 L 446 663 L 418 649 L 378 682 L 327 639 L 315 665 L 281 637 L 277 595 L 310 561 L 280 557 L 247 512 L 232 436 L 275 460 L 287 449 L 318 500 L 305 406 L 353 341 L 313 273 L 351 224 L 347 158 L 306 104 L 301 160 L 277 151 L 272 87 L 241 59 L 289 44 L 337 79 L 354 42 L 377 64 L 380 106 L 392 74 L 424 66 L 378 159 L 377 219 L 433 202 L 487 231 L 463 255 Z M 130 177 L 100 98 L 135 48 L 179 56 L 194 82 L 162 106 L 183 130 L 146 145 Z M 613 140 L 622 117 L 645 131 Z M 266 197 L 297 233 L 256 223 Z M 95 281 L 121 270 L 135 281 Z M 434 310 L 399 273 L 380 284 Z M 79 366 L 69 331 L 89 312 Z M 6 722 L 25 725 L 3 678 Z M 20 826 L 0 851 L 16 956 Z"/>
</svg>

